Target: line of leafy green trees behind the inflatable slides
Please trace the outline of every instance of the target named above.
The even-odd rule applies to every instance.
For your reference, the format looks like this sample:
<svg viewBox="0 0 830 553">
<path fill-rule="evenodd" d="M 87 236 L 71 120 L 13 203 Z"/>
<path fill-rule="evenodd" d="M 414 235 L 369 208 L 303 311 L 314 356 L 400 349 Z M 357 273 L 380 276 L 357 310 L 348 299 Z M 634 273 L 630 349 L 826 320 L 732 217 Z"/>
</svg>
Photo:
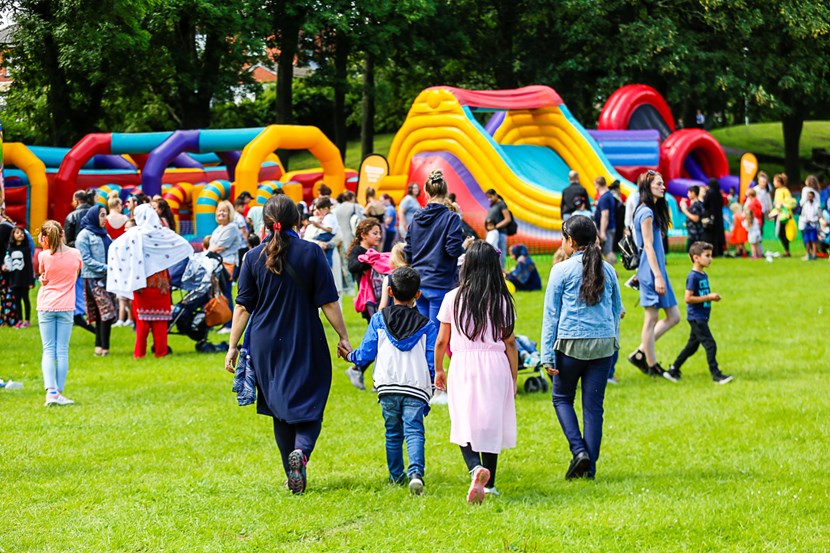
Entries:
<svg viewBox="0 0 830 553">
<path fill-rule="evenodd" d="M 302 123 L 344 155 L 360 136 L 368 153 L 428 86 L 547 84 L 591 126 L 610 93 L 645 83 L 687 122 L 698 109 L 781 121 L 797 179 L 803 122 L 830 112 L 822 0 L 0 0 L 0 10 L 16 25 L 2 117 L 29 143 Z M 257 63 L 276 67 L 275 86 L 243 70 Z"/>
</svg>

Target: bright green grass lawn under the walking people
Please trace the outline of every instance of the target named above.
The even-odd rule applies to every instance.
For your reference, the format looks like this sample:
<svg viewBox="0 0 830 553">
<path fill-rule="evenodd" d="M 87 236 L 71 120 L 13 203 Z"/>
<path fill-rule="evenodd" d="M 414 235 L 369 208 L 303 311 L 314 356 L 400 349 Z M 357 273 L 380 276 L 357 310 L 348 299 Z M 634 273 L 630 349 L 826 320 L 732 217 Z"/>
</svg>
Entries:
<svg viewBox="0 0 830 553">
<path fill-rule="evenodd" d="M 546 278 L 550 257 L 537 262 Z M 688 270 L 670 255 L 678 295 Z M 714 385 L 702 351 L 680 384 L 623 358 L 593 482 L 563 479 L 570 453 L 549 393 L 520 393 L 502 496 L 479 507 L 465 503 L 445 406 L 426 419 L 426 495 L 386 484 L 380 408 L 341 361 L 309 490 L 294 497 L 270 421 L 236 406 L 222 355 L 172 336 L 175 355 L 136 361 L 132 332 L 119 328 L 112 355 L 96 358 L 92 335 L 76 329 L 66 390 L 76 404 L 47 409 L 36 328 L 0 328 L 0 376 L 25 384 L 0 390 L 0 552 L 826 550 L 830 264 L 718 259 L 710 273 L 723 296 L 711 323 L 718 358 L 735 381 Z M 350 301 L 357 345 L 365 323 Z M 517 331 L 538 339 L 543 293 L 516 301 Z M 623 301 L 627 354 L 642 310 L 627 288 Z M 687 328 L 658 343 L 664 366 Z"/>
</svg>

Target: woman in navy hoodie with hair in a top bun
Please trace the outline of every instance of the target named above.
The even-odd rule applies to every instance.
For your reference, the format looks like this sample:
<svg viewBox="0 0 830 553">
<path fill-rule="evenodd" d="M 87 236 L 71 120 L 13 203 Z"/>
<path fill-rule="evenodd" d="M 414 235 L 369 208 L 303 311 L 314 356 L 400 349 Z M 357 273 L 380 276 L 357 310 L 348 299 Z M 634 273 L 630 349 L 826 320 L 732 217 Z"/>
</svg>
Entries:
<svg viewBox="0 0 830 553">
<path fill-rule="evenodd" d="M 427 205 L 415 213 L 406 234 L 404 254 L 421 275 L 418 311 L 437 324 L 444 294 L 458 285 L 458 258 L 464 252 L 461 217 L 444 205 L 447 181 L 436 169 L 424 185 Z"/>
</svg>

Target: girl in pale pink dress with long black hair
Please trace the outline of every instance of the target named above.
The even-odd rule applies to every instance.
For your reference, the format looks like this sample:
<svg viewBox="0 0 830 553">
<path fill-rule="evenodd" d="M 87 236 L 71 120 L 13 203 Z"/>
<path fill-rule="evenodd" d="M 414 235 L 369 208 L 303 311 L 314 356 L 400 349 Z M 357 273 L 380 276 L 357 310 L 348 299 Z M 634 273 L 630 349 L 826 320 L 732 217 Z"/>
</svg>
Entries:
<svg viewBox="0 0 830 553">
<path fill-rule="evenodd" d="M 472 477 L 467 502 L 481 503 L 498 494 L 498 454 L 516 446 L 516 311 L 491 245 L 476 240 L 467 249 L 458 288 L 444 297 L 438 321 L 435 386 L 447 390 L 450 441 L 461 446 Z"/>
</svg>

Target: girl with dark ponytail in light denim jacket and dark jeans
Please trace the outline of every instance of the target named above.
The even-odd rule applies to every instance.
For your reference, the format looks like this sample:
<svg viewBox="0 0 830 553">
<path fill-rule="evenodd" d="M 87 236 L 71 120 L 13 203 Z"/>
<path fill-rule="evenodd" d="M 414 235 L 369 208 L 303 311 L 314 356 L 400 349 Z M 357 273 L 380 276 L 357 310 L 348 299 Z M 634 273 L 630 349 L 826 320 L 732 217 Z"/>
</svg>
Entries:
<svg viewBox="0 0 830 553">
<path fill-rule="evenodd" d="M 545 292 L 542 363 L 553 376 L 553 405 L 571 448 L 565 478 L 593 478 L 602 442 L 605 387 L 620 349 L 623 307 L 614 268 L 602 259 L 594 222 L 582 215 L 562 224 L 562 248 L 570 255 L 554 265 Z M 584 433 L 574 411 L 582 380 Z"/>
</svg>

